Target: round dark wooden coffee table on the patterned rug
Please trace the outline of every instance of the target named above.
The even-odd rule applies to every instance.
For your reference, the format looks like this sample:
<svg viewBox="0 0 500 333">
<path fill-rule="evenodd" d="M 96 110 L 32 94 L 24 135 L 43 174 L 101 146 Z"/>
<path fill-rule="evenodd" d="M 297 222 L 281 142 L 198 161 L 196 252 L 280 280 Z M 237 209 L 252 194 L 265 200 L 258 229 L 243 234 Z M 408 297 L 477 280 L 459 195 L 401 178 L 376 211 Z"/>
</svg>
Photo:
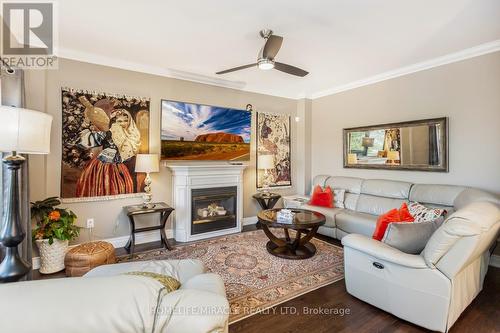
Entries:
<svg viewBox="0 0 500 333">
<path fill-rule="evenodd" d="M 295 213 L 293 223 L 278 223 L 276 214 L 281 209 L 261 211 L 257 217 L 262 230 L 269 238 L 266 248 L 269 253 L 285 259 L 306 259 L 314 256 L 316 247 L 309 241 L 316 235 L 318 228 L 325 224 L 325 215 L 306 209 L 292 209 Z M 284 238 L 276 237 L 269 228 L 282 228 Z M 290 237 L 289 229 L 295 230 L 295 237 Z M 303 237 L 302 237 L 303 236 Z"/>
</svg>

